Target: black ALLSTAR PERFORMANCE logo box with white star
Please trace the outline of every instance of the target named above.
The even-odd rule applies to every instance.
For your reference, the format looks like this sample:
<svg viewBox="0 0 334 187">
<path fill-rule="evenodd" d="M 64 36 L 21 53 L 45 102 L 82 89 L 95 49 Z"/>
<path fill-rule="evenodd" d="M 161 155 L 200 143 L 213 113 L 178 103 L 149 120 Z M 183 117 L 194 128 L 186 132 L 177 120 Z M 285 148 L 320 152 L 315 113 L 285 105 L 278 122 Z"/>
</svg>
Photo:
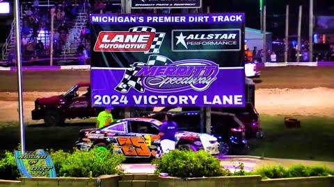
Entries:
<svg viewBox="0 0 334 187">
<path fill-rule="evenodd" d="M 172 51 L 240 51 L 241 30 L 172 30 Z"/>
</svg>

